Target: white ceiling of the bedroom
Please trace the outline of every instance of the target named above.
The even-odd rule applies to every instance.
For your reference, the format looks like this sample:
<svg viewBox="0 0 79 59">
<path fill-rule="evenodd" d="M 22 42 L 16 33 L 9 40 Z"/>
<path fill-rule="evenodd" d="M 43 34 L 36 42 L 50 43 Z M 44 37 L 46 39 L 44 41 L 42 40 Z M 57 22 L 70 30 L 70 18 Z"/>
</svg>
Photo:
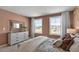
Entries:
<svg viewBox="0 0 79 59">
<path fill-rule="evenodd" d="M 43 16 L 74 9 L 72 6 L 0 6 L 0 8 L 28 17 Z"/>
</svg>

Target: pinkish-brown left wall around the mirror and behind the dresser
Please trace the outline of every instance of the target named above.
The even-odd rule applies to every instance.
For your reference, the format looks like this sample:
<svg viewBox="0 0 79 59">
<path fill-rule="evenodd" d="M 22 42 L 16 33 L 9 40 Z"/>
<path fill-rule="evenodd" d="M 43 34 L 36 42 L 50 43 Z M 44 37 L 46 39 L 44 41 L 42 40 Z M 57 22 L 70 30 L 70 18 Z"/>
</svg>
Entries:
<svg viewBox="0 0 79 59">
<path fill-rule="evenodd" d="M 29 28 L 29 18 L 0 9 L 0 45 L 8 42 L 8 32 L 10 32 L 10 20 L 25 23 Z"/>
</svg>

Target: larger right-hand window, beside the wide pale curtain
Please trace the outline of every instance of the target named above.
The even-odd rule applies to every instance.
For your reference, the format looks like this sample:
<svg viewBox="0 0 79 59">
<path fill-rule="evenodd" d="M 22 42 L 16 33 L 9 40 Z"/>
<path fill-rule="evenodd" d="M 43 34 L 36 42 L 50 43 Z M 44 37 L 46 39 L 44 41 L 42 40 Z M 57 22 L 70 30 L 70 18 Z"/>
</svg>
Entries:
<svg viewBox="0 0 79 59">
<path fill-rule="evenodd" d="M 61 34 L 61 16 L 50 17 L 50 35 L 60 35 Z"/>
</svg>

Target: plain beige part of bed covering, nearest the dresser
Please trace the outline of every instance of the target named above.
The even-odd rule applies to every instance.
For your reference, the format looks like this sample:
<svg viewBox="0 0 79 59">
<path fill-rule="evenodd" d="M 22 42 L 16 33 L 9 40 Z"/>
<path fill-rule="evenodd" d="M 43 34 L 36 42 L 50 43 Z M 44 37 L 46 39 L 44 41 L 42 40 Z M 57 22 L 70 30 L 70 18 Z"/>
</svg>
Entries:
<svg viewBox="0 0 79 59">
<path fill-rule="evenodd" d="M 19 44 L 19 51 L 33 52 L 47 37 L 39 36 Z"/>
</svg>

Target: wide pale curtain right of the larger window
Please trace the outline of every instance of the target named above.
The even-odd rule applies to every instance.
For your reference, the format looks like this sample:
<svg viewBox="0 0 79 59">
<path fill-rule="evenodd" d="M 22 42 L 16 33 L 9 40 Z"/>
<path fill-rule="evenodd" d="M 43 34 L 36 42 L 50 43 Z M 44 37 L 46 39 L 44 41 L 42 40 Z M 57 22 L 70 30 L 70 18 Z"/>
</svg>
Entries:
<svg viewBox="0 0 79 59">
<path fill-rule="evenodd" d="M 67 33 L 67 28 L 70 28 L 70 15 L 69 12 L 63 12 L 61 14 L 61 36 L 63 37 Z"/>
</svg>

